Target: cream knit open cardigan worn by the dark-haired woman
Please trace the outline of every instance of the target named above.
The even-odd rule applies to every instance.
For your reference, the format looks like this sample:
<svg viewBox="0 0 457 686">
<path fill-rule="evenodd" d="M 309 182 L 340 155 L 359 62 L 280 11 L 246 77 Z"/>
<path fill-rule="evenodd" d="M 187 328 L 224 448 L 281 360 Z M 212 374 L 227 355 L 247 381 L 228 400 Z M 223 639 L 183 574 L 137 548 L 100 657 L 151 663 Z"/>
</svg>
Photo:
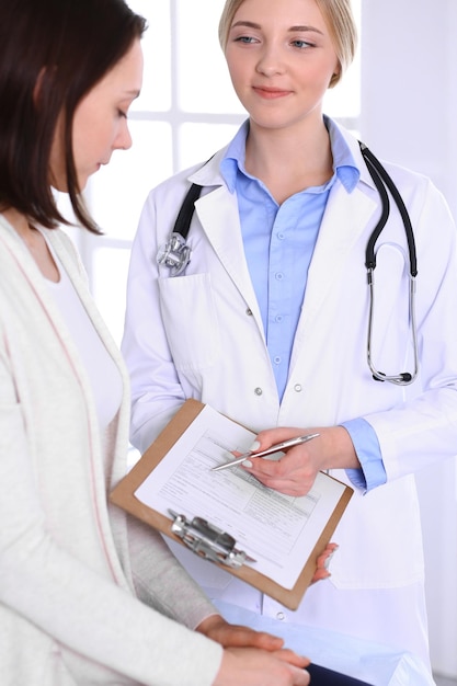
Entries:
<svg viewBox="0 0 457 686">
<path fill-rule="evenodd" d="M 149 527 L 107 504 L 123 476 L 128 380 L 71 241 L 47 231 L 126 392 L 100 435 L 84 366 L 22 240 L 0 215 L 0 682 L 205 686 L 215 611 Z"/>
</svg>

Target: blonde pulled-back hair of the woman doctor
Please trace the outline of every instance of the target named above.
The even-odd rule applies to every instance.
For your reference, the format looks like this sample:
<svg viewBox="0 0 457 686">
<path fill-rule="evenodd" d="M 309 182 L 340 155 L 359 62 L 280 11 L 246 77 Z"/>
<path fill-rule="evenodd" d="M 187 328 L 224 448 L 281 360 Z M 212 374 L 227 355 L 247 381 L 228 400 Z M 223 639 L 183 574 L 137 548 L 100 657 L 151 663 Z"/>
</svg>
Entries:
<svg viewBox="0 0 457 686">
<path fill-rule="evenodd" d="M 226 50 L 233 16 L 244 0 L 227 0 L 219 21 L 219 43 Z M 354 59 L 357 45 L 357 28 L 351 9 L 351 0 L 316 0 L 316 3 L 329 27 L 340 69 L 333 75 L 329 88 L 341 80 L 344 71 Z"/>
</svg>

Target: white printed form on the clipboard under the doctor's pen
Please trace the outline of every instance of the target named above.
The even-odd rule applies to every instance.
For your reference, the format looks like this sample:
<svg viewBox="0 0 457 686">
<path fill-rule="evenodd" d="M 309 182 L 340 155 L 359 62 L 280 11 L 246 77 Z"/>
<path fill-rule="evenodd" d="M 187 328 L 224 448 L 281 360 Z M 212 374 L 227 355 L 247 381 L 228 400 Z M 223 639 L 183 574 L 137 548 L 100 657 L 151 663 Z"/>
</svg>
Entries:
<svg viewBox="0 0 457 686">
<path fill-rule="evenodd" d="M 264 487 L 240 467 L 212 471 L 231 451 L 248 450 L 254 438 L 205 405 L 135 496 L 167 517 L 171 510 L 207 519 L 255 560 L 247 564 L 289 590 L 347 487 L 319 473 L 307 495 L 294 498 Z"/>
</svg>

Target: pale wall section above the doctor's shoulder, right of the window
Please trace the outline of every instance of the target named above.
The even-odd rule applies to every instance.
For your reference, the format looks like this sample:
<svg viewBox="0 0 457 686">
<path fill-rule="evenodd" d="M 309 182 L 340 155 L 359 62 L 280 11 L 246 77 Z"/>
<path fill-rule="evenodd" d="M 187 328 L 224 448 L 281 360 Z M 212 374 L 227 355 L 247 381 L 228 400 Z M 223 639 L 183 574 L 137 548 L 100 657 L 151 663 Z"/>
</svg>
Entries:
<svg viewBox="0 0 457 686">
<path fill-rule="evenodd" d="M 457 214 L 456 2 L 364 0 L 363 13 L 363 134 L 432 176 Z"/>
</svg>

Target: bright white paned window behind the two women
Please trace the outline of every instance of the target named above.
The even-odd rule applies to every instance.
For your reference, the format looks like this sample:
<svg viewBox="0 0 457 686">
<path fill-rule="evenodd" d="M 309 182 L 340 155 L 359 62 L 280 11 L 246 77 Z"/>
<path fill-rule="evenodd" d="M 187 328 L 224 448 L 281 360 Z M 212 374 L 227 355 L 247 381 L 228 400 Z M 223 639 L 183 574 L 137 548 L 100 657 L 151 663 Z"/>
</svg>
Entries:
<svg viewBox="0 0 457 686">
<path fill-rule="evenodd" d="M 129 248 L 148 191 L 172 173 L 210 157 L 245 114 L 219 47 L 224 0 L 129 0 L 149 21 L 145 81 L 132 108 L 134 146 L 92 178 L 88 202 L 103 237 L 78 233 L 95 300 L 121 342 Z M 361 0 L 353 0 L 359 16 Z M 325 112 L 351 129 L 359 114 L 359 62 L 329 91 Z M 178 208 L 176 208 L 178 211 Z"/>
</svg>

